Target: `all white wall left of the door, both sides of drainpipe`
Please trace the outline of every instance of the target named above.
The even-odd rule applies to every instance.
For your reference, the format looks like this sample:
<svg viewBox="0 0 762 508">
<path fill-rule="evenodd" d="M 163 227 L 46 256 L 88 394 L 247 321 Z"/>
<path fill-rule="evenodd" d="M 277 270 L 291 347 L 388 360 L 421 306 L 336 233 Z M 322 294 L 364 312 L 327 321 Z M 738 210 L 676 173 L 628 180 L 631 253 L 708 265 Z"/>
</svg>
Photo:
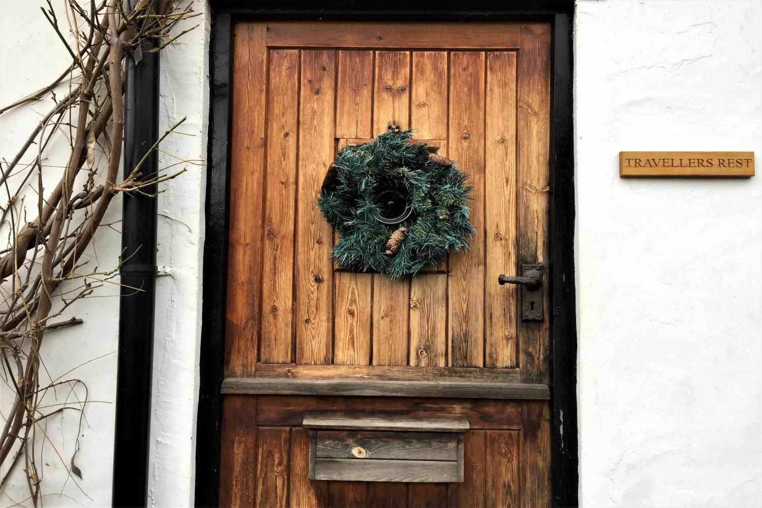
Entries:
<svg viewBox="0 0 762 508">
<path fill-rule="evenodd" d="M 68 58 L 56 34 L 46 24 L 40 5 L 44 2 L 0 0 L 0 11 L 12 13 L 0 16 L 2 105 L 48 85 L 62 72 L 62 62 Z M 54 2 L 54 7 L 60 8 L 60 4 Z M 206 2 L 196 0 L 194 9 L 201 15 L 184 21 L 175 30 L 179 33 L 195 24 L 200 26 L 162 53 L 160 128 L 167 129 L 187 117 L 179 130 L 190 136 L 170 136 L 162 144 L 166 155 L 159 158 L 160 168 L 178 162 L 173 155 L 193 163 L 187 165 L 188 171 L 181 177 L 164 184 L 166 192 L 158 197 L 160 276 L 156 295 L 149 464 L 152 506 L 191 506 L 194 496 L 210 28 Z M 36 28 L 30 30 L 30 27 Z M 0 116 L 0 157 L 8 160 L 13 157 L 49 103 L 11 110 Z M 60 177 L 61 170 L 56 166 L 66 163 L 65 149 L 66 143 L 61 143 L 46 152 L 46 174 L 51 181 Z M 175 169 L 181 167 L 175 166 Z M 120 218 L 121 200 L 115 200 L 104 222 L 116 222 Z M 117 224 L 115 228 L 118 227 Z M 5 230 L 0 238 L 5 238 Z M 101 228 L 96 238 L 95 250 L 83 259 L 100 267 L 115 266 L 120 255 L 120 235 L 109 228 Z M 118 278 L 115 282 L 118 283 Z M 45 443 L 44 506 L 110 506 L 118 294 L 115 285 L 99 289 L 98 298 L 72 306 L 71 315 L 83 318 L 84 324 L 46 334 L 43 361 L 50 375 L 56 378 L 73 369 L 66 377 L 82 379 L 93 402 L 85 408 L 87 420 L 79 432 L 81 449 L 76 464 L 84 478 L 82 481 L 75 478 L 78 485 L 72 478 L 67 479 L 63 463 L 68 466 L 74 452 L 79 415 L 69 411 L 47 420 L 46 432 L 62 460 L 50 447 L 50 442 Z M 91 363 L 79 366 L 93 359 Z M 59 401 L 63 401 L 67 394 L 67 390 L 59 388 Z M 81 386 L 77 388 L 77 395 L 84 396 Z M 52 393 L 49 398 L 49 404 L 56 402 Z M 0 412 L 3 415 L 7 414 L 12 402 L 12 392 L 0 384 Z M 5 417 L 0 417 L 0 421 L 4 422 Z M 39 439 L 39 443 L 42 441 Z M 30 506 L 25 500 L 27 495 L 26 480 L 20 468 L 0 494 L 0 506 L 15 503 Z"/>
</svg>

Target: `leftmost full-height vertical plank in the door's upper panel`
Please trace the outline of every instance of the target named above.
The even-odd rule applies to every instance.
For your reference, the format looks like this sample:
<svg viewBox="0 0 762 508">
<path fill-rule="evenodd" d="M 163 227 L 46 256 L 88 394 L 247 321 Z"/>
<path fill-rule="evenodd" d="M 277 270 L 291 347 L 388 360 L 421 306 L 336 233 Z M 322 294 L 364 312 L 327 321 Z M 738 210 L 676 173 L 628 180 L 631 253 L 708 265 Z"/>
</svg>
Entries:
<svg viewBox="0 0 762 508">
<path fill-rule="evenodd" d="M 259 358 L 290 363 L 299 51 L 270 52 Z"/>
</svg>

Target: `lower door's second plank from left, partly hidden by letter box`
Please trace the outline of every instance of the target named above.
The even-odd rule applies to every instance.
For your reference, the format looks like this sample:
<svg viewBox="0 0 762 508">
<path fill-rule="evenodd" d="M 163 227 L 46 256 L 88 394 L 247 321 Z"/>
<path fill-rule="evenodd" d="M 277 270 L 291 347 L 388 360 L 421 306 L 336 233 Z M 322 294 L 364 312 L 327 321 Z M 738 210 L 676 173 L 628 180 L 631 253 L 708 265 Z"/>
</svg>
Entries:
<svg viewBox="0 0 762 508">
<path fill-rule="evenodd" d="M 309 479 L 309 430 L 291 430 L 291 508 L 318 508 L 328 504 L 328 483 Z"/>
</svg>

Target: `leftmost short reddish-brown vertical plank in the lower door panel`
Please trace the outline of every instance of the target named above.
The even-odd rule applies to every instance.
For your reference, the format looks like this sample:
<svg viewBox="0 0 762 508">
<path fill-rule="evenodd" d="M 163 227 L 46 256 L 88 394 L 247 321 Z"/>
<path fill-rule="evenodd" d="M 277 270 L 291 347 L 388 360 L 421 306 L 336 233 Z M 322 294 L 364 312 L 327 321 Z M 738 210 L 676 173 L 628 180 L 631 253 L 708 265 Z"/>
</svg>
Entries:
<svg viewBox="0 0 762 508">
<path fill-rule="evenodd" d="M 259 427 L 258 438 L 255 506 L 285 508 L 289 485 L 289 429 Z"/>
</svg>

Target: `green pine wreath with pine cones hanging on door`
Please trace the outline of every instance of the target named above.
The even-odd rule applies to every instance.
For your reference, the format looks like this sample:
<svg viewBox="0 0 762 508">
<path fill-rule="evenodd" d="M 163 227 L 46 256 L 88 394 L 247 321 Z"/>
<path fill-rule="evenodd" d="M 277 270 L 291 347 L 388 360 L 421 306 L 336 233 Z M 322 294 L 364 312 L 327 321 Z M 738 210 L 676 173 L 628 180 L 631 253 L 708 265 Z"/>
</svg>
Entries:
<svg viewBox="0 0 762 508">
<path fill-rule="evenodd" d="M 466 249 L 474 233 L 466 174 L 411 137 L 389 129 L 344 146 L 328 168 L 318 206 L 341 235 L 331 249 L 341 267 L 402 279 Z"/>
</svg>

